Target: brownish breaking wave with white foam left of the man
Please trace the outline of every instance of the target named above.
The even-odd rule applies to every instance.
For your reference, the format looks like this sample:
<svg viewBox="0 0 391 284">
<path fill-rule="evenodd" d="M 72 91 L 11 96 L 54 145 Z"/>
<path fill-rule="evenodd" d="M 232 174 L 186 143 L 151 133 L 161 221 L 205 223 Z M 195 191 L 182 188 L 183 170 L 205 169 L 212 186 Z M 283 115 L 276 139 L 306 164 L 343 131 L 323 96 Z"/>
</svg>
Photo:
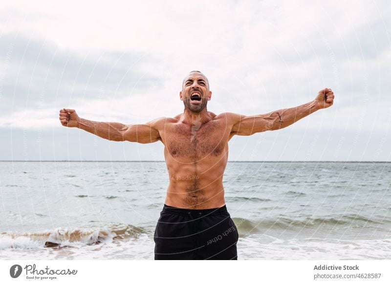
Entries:
<svg viewBox="0 0 391 284">
<path fill-rule="evenodd" d="M 59 227 L 43 232 L 4 232 L 0 234 L 0 249 L 92 245 L 137 238 L 142 233 L 145 233 L 142 227 L 129 224 L 91 228 Z"/>
</svg>

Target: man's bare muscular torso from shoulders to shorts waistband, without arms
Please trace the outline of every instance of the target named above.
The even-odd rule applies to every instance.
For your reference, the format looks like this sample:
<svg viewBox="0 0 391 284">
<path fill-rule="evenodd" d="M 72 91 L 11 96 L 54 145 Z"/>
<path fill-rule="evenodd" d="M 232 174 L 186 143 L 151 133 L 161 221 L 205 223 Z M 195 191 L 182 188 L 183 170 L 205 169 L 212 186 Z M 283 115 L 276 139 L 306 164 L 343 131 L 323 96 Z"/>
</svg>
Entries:
<svg viewBox="0 0 391 284">
<path fill-rule="evenodd" d="M 225 204 L 222 179 L 232 125 L 226 115 L 210 115 L 212 120 L 193 125 L 180 122 L 178 115 L 159 127 L 170 179 L 167 205 L 205 209 Z"/>
</svg>

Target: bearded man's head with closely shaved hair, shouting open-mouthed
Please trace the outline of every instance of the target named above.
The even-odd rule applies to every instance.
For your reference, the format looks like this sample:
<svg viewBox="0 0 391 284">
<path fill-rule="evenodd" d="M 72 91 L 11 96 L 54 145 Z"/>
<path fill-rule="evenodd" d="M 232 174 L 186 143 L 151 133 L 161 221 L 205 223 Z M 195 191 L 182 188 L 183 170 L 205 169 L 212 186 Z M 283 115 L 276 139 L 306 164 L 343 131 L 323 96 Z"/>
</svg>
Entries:
<svg viewBox="0 0 391 284">
<path fill-rule="evenodd" d="M 199 72 L 189 73 L 183 81 L 182 91 L 179 93 L 185 107 L 196 113 L 206 107 L 211 95 L 208 79 Z"/>
</svg>

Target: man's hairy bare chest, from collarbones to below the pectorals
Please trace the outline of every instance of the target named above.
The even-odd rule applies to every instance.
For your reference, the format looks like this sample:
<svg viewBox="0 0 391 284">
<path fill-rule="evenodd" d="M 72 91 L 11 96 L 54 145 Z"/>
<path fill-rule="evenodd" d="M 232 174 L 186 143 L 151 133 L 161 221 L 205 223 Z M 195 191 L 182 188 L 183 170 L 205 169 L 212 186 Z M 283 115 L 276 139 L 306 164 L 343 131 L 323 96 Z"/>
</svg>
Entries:
<svg viewBox="0 0 391 284">
<path fill-rule="evenodd" d="M 172 157 L 200 159 L 226 153 L 227 128 L 219 122 L 173 124 L 165 131 L 166 150 Z"/>
</svg>

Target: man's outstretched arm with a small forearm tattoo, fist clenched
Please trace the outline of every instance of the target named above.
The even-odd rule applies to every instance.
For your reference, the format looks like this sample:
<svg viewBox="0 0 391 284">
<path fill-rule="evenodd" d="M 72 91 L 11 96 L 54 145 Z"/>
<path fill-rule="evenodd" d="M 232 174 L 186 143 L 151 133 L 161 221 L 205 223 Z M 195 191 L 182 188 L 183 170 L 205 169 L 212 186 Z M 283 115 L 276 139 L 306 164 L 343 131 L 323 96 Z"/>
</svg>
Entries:
<svg viewBox="0 0 391 284">
<path fill-rule="evenodd" d="M 233 123 L 231 137 L 233 135 L 252 135 L 266 130 L 278 130 L 301 120 L 307 115 L 333 104 L 334 93 L 325 88 L 319 91 L 315 100 L 302 105 L 276 110 L 267 114 L 243 116 L 232 114 Z"/>
</svg>

